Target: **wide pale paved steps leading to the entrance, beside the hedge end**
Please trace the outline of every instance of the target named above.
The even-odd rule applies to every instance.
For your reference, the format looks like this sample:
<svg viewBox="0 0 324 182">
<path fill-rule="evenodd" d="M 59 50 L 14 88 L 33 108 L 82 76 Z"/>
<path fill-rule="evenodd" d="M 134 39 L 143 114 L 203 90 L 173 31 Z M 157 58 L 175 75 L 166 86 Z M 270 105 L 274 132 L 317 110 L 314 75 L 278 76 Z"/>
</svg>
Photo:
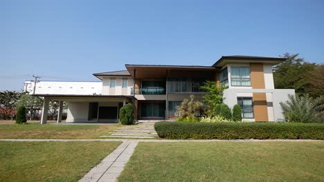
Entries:
<svg viewBox="0 0 324 182">
<path fill-rule="evenodd" d="M 100 138 L 128 138 L 128 139 L 154 139 L 157 133 L 154 130 L 154 122 L 138 123 L 137 125 L 124 125 L 110 135 Z"/>
</svg>

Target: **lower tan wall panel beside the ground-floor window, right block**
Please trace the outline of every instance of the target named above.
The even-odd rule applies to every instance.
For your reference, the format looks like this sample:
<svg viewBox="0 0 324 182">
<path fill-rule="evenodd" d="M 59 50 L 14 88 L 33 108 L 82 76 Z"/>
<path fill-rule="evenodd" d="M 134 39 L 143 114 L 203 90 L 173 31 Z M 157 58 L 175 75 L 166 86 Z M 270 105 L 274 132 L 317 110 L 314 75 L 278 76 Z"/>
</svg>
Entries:
<svg viewBox="0 0 324 182">
<path fill-rule="evenodd" d="M 253 93 L 253 110 L 255 121 L 268 121 L 267 95 Z"/>
</svg>

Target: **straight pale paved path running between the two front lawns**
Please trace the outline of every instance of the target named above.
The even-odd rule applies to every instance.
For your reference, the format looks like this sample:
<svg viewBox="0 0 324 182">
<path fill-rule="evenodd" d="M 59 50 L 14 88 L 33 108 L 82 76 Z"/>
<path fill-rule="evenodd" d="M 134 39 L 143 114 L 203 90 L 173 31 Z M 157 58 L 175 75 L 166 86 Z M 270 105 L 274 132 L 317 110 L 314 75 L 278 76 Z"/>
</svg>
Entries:
<svg viewBox="0 0 324 182">
<path fill-rule="evenodd" d="M 132 156 L 138 141 L 125 141 L 111 152 L 96 167 L 92 168 L 79 182 L 111 182 L 116 181 Z"/>
</svg>

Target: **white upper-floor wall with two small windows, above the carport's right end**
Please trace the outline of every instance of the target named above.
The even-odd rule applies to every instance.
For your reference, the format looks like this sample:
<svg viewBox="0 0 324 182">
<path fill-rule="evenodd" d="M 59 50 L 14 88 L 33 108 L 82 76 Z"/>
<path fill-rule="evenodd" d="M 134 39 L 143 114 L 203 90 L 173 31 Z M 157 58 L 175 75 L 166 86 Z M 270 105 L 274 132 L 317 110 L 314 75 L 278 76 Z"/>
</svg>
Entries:
<svg viewBox="0 0 324 182">
<path fill-rule="evenodd" d="M 115 79 L 115 88 L 110 88 L 110 79 Z M 122 88 L 123 79 L 127 79 L 127 88 Z M 101 94 L 108 95 L 131 95 L 133 79 L 130 77 L 104 77 L 102 79 Z"/>
</svg>

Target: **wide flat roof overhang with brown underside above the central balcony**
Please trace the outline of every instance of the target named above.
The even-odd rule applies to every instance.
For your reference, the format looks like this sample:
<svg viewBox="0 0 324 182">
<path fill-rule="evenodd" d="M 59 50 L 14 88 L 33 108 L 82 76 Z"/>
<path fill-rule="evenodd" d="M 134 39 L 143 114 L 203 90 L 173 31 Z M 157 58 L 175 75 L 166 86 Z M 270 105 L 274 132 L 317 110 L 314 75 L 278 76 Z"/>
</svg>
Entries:
<svg viewBox="0 0 324 182">
<path fill-rule="evenodd" d="M 129 74 L 136 78 L 161 78 L 167 77 L 168 71 L 199 71 L 199 72 L 215 72 L 220 70 L 219 67 L 200 66 L 200 65 L 130 65 L 126 64 Z M 136 70 L 136 73 L 135 73 Z"/>
</svg>

